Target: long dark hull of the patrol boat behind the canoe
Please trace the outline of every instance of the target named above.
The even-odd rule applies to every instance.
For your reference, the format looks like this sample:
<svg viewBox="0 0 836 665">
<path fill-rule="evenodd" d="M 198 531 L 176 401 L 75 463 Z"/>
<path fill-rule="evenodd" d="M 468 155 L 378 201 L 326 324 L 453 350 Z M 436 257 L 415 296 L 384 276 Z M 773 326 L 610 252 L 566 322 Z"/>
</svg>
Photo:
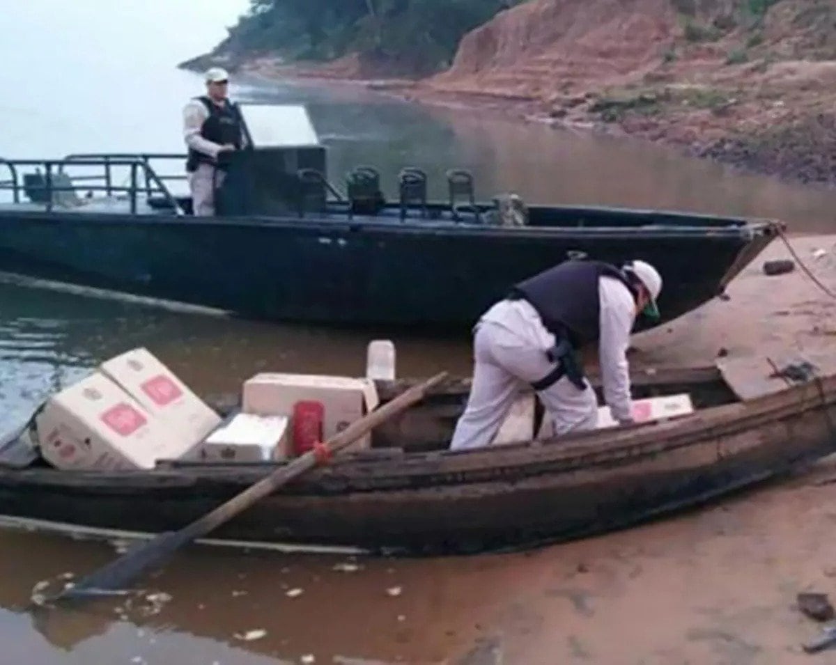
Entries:
<svg viewBox="0 0 836 665">
<path fill-rule="evenodd" d="M 512 284 L 569 256 L 653 264 L 670 319 L 698 307 L 776 226 L 645 211 L 533 207 L 504 228 L 374 217 L 171 216 L 0 206 L 0 271 L 216 307 L 241 317 L 466 332 Z"/>
</svg>

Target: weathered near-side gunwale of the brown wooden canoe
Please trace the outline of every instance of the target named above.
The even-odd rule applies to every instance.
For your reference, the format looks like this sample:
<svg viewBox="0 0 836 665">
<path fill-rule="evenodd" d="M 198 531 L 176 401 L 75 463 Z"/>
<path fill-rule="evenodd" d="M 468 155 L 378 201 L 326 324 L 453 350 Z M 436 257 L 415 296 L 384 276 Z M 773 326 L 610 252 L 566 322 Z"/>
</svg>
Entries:
<svg viewBox="0 0 836 665">
<path fill-rule="evenodd" d="M 474 483 L 562 475 L 579 470 L 629 468 L 642 459 L 676 454 L 711 440 L 770 428 L 785 419 L 820 412 L 833 429 L 836 377 L 803 383 L 746 403 L 726 404 L 662 423 L 638 424 L 617 431 L 592 431 L 568 439 L 521 442 L 473 451 L 440 450 L 403 453 L 380 449 L 374 454 L 347 454 L 294 481 L 277 494 L 350 495 L 353 493 L 453 487 Z M 662 434 L 660 438 L 660 434 Z M 833 440 L 836 445 L 836 440 Z M 721 451 L 718 448 L 718 459 Z M 59 470 L 0 470 L 0 486 L 64 488 L 80 494 L 120 494 L 134 491 L 214 491 L 247 485 L 281 463 L 235 466 L 166 465 L 142 472 L 103 474 Z"/>
</svg>

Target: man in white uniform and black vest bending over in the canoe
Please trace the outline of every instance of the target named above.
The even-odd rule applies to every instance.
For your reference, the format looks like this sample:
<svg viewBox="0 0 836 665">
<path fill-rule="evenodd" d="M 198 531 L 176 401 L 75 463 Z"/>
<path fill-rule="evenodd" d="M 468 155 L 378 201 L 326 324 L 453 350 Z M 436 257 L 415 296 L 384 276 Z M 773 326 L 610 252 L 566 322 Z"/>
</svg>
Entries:
<svg viewBox="0 0 836 665">
<path fill-rule="evenodd" d="M 659 317 L 661 289 L 659 272 L 645 261 L 619 270 L 576 260 L 513 287 L 477 323 L 473 384 L 451 449 L 490 445 L 526 384 L 538 392 L 555 435 L 594 429 L 598 402 L 576 356 L 584 343 L 598 343 L 604 399 L 619 424 L 630 424 L 630 333 L 640 312 Z"/>
</svg>

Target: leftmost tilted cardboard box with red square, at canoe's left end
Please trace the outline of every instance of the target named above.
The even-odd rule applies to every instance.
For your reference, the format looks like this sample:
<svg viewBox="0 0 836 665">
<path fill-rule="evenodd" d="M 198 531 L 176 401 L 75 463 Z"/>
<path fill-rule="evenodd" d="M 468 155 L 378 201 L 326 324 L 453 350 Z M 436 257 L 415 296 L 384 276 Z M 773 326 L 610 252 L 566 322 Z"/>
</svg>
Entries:
<svg viewBox="0 0 836 665">
<path fill-rule="evenodd" d="M 98 372 L 49 398 L 35 426 L 41 454 L 59 469 L 153 469 L 192 445 Z"/>
</svg>

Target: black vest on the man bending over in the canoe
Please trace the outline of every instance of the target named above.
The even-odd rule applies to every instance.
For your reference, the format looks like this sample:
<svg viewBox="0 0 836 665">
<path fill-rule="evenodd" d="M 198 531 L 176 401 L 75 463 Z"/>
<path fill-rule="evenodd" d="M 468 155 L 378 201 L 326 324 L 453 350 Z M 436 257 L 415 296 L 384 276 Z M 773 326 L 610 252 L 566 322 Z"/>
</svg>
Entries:
<svg viewBox="0 0 836 665">
<path fill-rule="evenodd" d="M 537 310 L 543 325 L 558 339 L 568 337 L 573 347 L 597 342 L 601 336 L 599 277 L 614 277 L 637 290 L 624 272 L 603 261 L 563 261 L 512 288 L 512 297 L 523 297 Z"/>
</svg>

